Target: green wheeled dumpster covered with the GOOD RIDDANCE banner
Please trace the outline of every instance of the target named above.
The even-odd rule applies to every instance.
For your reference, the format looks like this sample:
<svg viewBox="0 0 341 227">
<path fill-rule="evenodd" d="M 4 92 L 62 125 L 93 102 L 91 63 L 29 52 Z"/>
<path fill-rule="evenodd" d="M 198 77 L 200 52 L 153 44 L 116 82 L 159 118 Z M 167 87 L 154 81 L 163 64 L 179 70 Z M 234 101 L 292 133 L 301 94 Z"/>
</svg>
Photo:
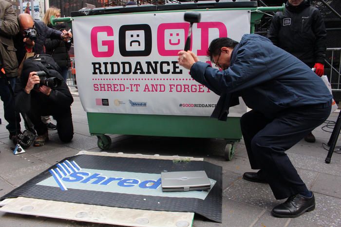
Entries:
<svg viewBox="0 0 341 227">
<path fill-rule="evenodd" d="M 213 38 L 240 40 L 263 12 L 280 10 L 284 6 L 257 7 L 256 1 L 204 1 L 85 9 L 54 19 L 72 20 L 79 97 L 98 147 L 108 149 L 105 134 L 112 133 L 221 138 L 230 160 L 242 138 L 239 120 L 246 106 L 240 100 L 230 108 L 226 122 L 209 117 L 219 96 L 177 64 L 189 30 L 184 13 L 200 12 L 191 50 L 209 62 Z"/>
</svg>

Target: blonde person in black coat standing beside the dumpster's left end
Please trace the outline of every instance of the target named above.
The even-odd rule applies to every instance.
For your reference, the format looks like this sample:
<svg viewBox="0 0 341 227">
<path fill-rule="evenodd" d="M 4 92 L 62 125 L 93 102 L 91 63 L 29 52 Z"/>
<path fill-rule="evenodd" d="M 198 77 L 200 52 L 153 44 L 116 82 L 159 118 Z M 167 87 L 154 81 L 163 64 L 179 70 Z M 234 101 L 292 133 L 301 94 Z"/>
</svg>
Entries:
<svg viewBox="0 0 341 227">
<path fill-rule="evenodd" d="M 54 16 L 55 18 L 60 17 L 60 9 L 51 7 L 46 10 L 45 16 L 43 18 L 44 23 L 55 30 L 64 30 L 66 26 L 65 24 L 51 24 L 51 16 Z M 71 32 L 69 32 L 70 37 L 72 37 Z M 53 57 L 53 59 L 57 62 L 58 66 L 61 69 L 61 76 L 63 76 L 64 81 L 66 81 L 69 68 L 71 67 L 71 61 L 69 56 L 69 50 L 71 48 L 71 40 L 68 41 L 62 41 L 57 39 L 50 39 L 47 38 L 45 40 L 45 49 L 46 54 L 49 54 Z"/>
</svg>

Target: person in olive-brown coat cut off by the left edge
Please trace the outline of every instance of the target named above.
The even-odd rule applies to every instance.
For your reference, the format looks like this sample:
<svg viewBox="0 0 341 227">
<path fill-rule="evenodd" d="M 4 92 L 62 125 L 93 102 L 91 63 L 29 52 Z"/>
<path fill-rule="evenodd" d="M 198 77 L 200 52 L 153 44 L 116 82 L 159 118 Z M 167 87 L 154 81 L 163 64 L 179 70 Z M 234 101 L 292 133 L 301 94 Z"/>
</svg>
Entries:
<svg viewBox="0 0 341 227">
<path fill-rule="evenodd" d="M 0 68 L 4 72 L 14 90 L 17 77 L 18 61 L 16 49 L 13 44 L 13 37 L 19 32 L 17 15 L 8 1 L 0 0 Z M 6 129 L 9 131 L 9 138 L 20 132 L 20 116 L 14 108 L 14 97 L 9 90 L 4 75 L 0 73 L 0 96 L 3 101 L 4 117 L 8 122 Z"/>
</svg>

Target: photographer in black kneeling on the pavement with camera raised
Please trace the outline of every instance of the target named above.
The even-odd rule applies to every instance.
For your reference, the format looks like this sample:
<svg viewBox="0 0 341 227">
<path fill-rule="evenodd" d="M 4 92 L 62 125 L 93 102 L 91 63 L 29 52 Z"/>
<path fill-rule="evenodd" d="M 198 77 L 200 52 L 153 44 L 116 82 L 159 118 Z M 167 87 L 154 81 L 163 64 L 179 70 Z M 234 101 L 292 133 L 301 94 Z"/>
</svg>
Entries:
<svg viewBox="0 0 341 227">
<path fill-rule="evenodd" d="M 65 81 L 62 81 L 63 78 L 57 71 L 48 70 L 43 72 L 40 70 L 33 63 L 32 58 L 25 60 L 21 77 L 16 83 L 16 109 L 20 113 L 27 114 L 35 125 L 38 136 L 34 141 L 34 146 L 43 146 L 49 140 L 46 124 L 41 121 L 41 116 L 47 115 L 52 115 L 56 119 L 60 140 L 70 142 L 74 135 L 71 115 L 71 104 L 74 99 Z M 52 80 L 58 81 L 60 85 L 46 83 Z"/>
</svg>

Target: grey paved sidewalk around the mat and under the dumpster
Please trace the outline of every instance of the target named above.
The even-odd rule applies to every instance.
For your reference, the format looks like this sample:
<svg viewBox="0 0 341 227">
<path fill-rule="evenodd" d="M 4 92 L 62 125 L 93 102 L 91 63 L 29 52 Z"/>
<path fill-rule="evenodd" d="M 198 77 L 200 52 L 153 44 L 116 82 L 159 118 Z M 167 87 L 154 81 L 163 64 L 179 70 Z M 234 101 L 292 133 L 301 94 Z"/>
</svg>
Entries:
<svg viewBox="0 0 341 227">
<path fill-rule="evenodd" d="M 76 94 L 76 93 L 75 93 Z M 48 169 L 65 157 L 78 151 L 100 151 L 96 136 L 91 136 L 88 121 L 80 103 L 74 96 L 72 114 L 75 135 L 72 142 L 63 144 L 57 131 L 49 131 L 50 141 L 43 147 L 30 147 L 26 153 L 13 155 L 14 147 L 5 128 L 0 104 L 0 196 L 20 186 L 27 180 Z M 338 113 L 328 120 L 336 121 Z M 22 128 L 23 122 L 21 122 Z M 324 126 L 326 124 L 322 124 Z M 223 140 L 174 138 L 157 136 L 110 135 L 113 144 L 108 152 L 142 153 L 160 155 L 183 155 L 204 157 L 205 161 L 223 167 L 223 223 L 208 222 L 195 215 L 195 227 L 341 227 L 341 154 L 334 153 L 330 164 L 325 164 L 327 155 L 322 143 L 327 143 L 330 132 L 322 131 L 322 126 L 313 133 L 316 143 L 301 141 L 287 153 L 308 188 L 314 191 L 316 209 L 294 219 L 275 218 L 271 209 L 282 203 L 276 201 L 267 184 L 247 182 L 242 179 L 245 171 L 250 171 L 243 140 L 237 145 L 235 156 L 225 161 Z M 327 129 L 332 131 L 332 129 Z M 337 146 L 340 146 L 339 142 Z M 0 227 L 66 227 L 66 226 L 108 226 L 81 223 L 61 219 L 32 217 L 0 212 Z"/>
</svg>

